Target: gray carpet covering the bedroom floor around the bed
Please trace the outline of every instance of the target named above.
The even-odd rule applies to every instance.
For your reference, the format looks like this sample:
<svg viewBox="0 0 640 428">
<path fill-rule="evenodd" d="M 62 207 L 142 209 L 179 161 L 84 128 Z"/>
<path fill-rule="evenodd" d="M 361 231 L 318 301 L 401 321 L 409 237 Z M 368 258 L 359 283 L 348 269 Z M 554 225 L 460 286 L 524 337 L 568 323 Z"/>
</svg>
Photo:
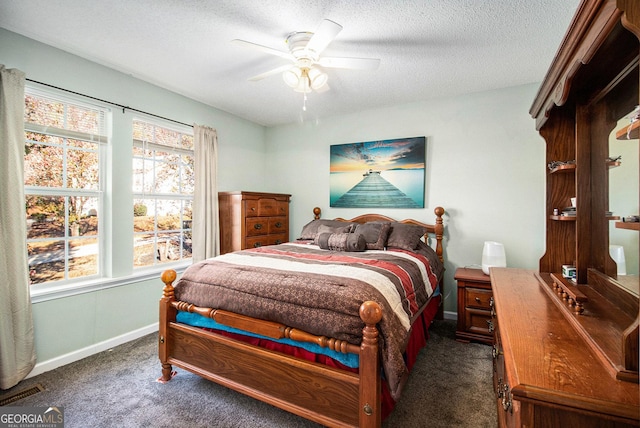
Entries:
<svg viewBox="0 0 640 428">
<path fill-rule="evenodd" d="M 435 321 L 403 395 L 383 427 L 496 427 L 491 347 L 454 340 L 455 322 Z M 85 358 L 0 393 L 7 406 L 63 406 L 65 428 L 318 427 L 181 369 L 160 384 L 156 334 Z"/>
</svg>

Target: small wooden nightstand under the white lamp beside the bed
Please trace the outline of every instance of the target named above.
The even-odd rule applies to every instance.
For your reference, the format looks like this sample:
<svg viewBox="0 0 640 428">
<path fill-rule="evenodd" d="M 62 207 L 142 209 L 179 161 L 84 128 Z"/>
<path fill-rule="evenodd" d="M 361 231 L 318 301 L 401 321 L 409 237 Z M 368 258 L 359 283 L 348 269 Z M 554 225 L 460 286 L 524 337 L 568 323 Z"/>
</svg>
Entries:
<svg viewBox="0 0 640 428">
<path fill-rule="evenodd" d="M 458 330 L 456 339 L 493 344 L 491 278 L 481 269 L 458 268 Z"/>
</svg>

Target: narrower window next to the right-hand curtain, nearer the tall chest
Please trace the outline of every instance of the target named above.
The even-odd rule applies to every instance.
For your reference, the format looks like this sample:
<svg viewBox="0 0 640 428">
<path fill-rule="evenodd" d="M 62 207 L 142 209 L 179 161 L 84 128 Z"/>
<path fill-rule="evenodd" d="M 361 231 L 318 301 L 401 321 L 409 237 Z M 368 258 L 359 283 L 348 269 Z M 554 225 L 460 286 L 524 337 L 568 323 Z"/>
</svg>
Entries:
<svg viewBox="0 0 640 428">
<path fill-rule="evenodd" d="M 133 122 L 134 268 L 191 258 L 193 130 Z"/>
</svg>

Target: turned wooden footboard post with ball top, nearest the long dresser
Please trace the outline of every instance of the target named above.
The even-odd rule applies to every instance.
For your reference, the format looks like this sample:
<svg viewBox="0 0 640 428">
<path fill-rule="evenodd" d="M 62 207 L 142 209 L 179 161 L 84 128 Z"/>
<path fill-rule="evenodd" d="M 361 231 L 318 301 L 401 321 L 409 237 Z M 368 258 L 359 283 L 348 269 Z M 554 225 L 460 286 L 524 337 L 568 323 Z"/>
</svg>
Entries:
<svg viewBox="0 0 640 428">
<path fill-rule="evenodd" d="M 360 306 L 360 318 L 365 327 L 360 345 L 359 427 L 379 428 L 382 423 L 382 392 L 376 324 L 382 319 L 382 308 L 376 302 L 364 302 Z"/>
</svg>

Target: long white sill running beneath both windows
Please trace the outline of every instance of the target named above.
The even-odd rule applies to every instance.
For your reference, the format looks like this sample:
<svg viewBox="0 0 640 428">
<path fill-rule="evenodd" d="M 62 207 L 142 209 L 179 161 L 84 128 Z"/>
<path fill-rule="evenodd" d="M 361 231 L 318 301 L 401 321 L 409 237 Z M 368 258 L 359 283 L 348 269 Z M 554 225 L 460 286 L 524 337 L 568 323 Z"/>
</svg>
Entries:
<svg viewBox="0 0 640 428">
<path fill-rule="evenodd" d="M 118 278 L 99 278 L 90 281 L 65 283 L 61 285 L 51 285 L 48 287 L 45 286 L 40 290 L 31 290 L 31 303 L 42 303 L 48 300 L 62 299 L 78 294 L 92 293 L 98 290 L 106 290 L 108 288 L 120 287 L 148 280 L 157 280 L 159 284 L 162 284 L 162 281 L 160 281 L 160 275 L 162 272 L 167 269 L 173 269 L 178 274 L 181 274 L 189 265 L 191 265 L 191 261 L 155 266 L 149 269 L 141 269 L 131 275 Z"/>
</svg>

